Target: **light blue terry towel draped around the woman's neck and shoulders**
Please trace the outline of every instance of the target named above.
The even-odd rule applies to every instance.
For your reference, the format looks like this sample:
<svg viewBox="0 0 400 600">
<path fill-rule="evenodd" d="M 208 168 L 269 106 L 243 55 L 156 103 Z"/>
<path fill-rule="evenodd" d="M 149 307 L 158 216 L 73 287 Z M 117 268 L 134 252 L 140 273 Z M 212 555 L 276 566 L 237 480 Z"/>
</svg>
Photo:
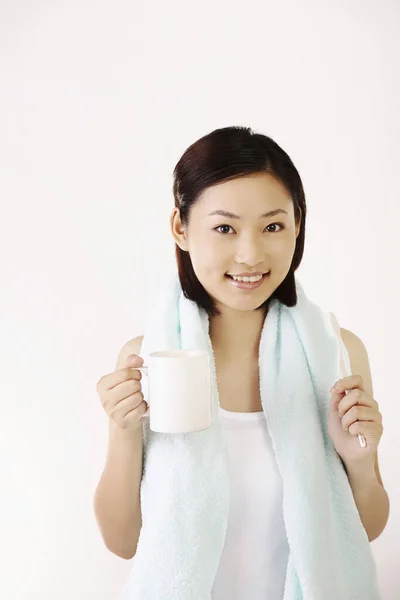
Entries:
<svg viewBox="0 0 400 600">
<path fill-rule="evenodd" d="M 296 306 L 271 301 L 259 350 L 290 548 L 283 600 L 379 600 L 368 537 L 327 431 L 329 390 L 341 376 L 338 338 L 331 313 L 297 279 L 296 287 Z M 150 352 L 176 348 L 210 352 L 213 424 L 163 434 L 144 420 L 142 530 L 119 600 L 210 600 L 224 546 L 229 481 L 209 320 L 174 276 L 149 319 L 141 355 L 147 364 Z M 146 397 L 145 377 L 142 383 Z"/>
</svg>

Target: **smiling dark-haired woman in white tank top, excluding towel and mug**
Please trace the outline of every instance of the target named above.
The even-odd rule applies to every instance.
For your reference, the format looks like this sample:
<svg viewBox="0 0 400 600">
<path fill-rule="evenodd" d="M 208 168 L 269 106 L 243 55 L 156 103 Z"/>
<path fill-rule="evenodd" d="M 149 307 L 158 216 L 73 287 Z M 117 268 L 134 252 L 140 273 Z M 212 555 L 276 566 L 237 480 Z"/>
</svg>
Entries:
<svg viewBox="0 0 400 600">
<path fill-rule="evenodd" d="M 226 127 L 186 150 L 174 170 L 173 191 L 170 223 L 179 280 L 185 297 L 209 316 L 229 462 L 229 522 L 211 597 L 282 599 L 289 545 L 258 358 L 272 299 L 287 307 L 297 303 L 294 273 L 303 256 L 306 220 L 303 186 L 289 156 L 271 138 Z M 331 390 L 329 434 L 371 541 L 383 531 L 389 511 L 377 459 L 382 416 L 363 343 L 348 330 L 341 329 L 341 336 L 352 375 Z M 96 491 L 96 517 L 107 547 L 124 558 L 135 555 L 142 527 L 141 417 L 147 404 L 135 369 L 143 364 L 141 343 L 142 337 L 129 341 L 116 370 L 98 382 L 110 417 L 110 443 Z M 357 443 L 360 433 L 366 448 Z"/>
</svg>

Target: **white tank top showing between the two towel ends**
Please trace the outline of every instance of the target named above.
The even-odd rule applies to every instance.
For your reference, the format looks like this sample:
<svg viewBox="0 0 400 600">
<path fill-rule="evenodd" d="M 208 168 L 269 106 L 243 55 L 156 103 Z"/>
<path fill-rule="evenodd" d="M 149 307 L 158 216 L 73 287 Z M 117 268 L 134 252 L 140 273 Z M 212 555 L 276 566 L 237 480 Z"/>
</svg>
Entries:
<svg viewBox="0 0 400 600">
<path fill-rule="evenodd" d="M 282 480 L 264 412 L 219 407 L 228 457 L 230 512 L 212 600 L 282 600 L 289 547 Z"/>
</svg>

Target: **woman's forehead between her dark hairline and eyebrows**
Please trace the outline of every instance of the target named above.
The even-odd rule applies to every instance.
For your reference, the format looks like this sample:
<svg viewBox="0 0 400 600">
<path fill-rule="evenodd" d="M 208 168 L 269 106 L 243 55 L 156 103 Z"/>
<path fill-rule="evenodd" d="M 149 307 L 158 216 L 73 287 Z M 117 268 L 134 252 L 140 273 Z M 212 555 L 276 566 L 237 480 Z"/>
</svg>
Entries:
<svg viewBox="0 0 400 600">
<path fill-rule="evenodd" d="M 216 208 L 233 208 L 237 210 L 266 206 L 271 208 L 287 208 L 292 203 L 289 191 L 270 173 L 246 175 L 230 181 L 213 185 L 201 194 L 196 207 L 200 211 Z"/>
</svg>

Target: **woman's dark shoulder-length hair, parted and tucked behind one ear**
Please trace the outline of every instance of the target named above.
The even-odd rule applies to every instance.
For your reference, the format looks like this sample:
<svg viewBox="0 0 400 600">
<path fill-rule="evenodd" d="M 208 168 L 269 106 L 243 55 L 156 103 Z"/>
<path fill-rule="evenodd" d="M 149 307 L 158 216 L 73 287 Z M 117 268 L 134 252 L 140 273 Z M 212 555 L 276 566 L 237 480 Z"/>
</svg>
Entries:
<svg viewBox="0 0 400 600">
<path fill-rule="evenodd" d="M 190 210 L 206 188 L 263 171 L 271 173 L 285 185 L 293 200 L 296 224 L 301 218 L 289 272 L 271 297 L 257 308 L 267 311 L 273 298 L 286 306 L 296 305 L 294 272 L 300 265 L 304 251 L 306 200 L 300 175 L 288 154 L 273 139 L 254 133 L 250 127 L 215 129 L 189 146 L 179 159 L 173 173 L 173 193 L 182 224 L 187 226 Z M 189 252 L 175 244 L 175 255 L 180 284 L 186 298 L 196 302 L 209 315 L 220 314 L 215 302 L 198 280 Z"/>
</svg>

